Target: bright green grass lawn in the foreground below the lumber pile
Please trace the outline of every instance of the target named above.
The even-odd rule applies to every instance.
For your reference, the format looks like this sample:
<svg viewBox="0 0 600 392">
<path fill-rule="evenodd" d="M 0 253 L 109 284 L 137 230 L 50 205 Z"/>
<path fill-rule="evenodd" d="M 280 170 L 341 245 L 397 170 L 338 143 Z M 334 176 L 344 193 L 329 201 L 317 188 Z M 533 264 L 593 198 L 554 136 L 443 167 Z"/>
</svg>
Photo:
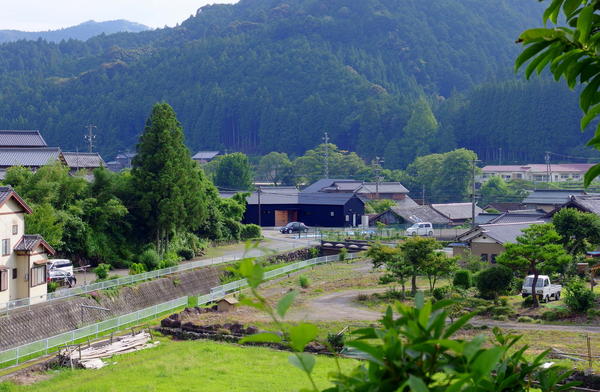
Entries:
<svg viewBox="0 0 600 392">
<path fill-rule="evenodd" d="M 298 391 L 308 379 L 287 361 L 290 353 L 212 341 L 161 339 L 158 347 L 115 356 L 100 370 L 51 371 L 55 376 L 31 386 L 0 384 L 0 391 Z M 340 361 L 344 370 L 356 362 Z M 314 374 L 329 385 L 333 358 L 319 356 Z"/>
</svg>

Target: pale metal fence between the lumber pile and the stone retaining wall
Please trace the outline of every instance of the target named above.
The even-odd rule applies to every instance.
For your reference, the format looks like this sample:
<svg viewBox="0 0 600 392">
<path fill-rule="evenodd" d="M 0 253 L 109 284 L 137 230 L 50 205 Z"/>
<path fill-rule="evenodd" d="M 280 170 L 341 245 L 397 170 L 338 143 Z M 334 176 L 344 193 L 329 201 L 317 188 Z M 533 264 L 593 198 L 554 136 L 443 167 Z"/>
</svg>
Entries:
<svg viewBox="0 0 600 392">
<path fill-rule="evenodd" d="M 146 318 L 158 316 L 159 314 L 169 310 L 185 306 L 187 303 L 188 297 L 181 297 L 172 301 L 164 302 L 162 304 L 150 306 L 133 313 L 125 314 L 123 316 L 104 320 L 96 324 L 87 325 L 83 328 L 65 332 L 47 339 L 38 340 L 19 347 L 8 349 L 6 351 L 1 351 L 0 367 L 6 363 L 19 364 L 19 362 L 22 362 L 22 359 L 29 359 L 34 356 L 48 354 L 59 346 L 63 346 L 65 344 L 74 344 L 76 341 L 91 336 L 97 337 L 103 332 L 117 329 L 124 325 L 135 323 Z"/>
</svg>

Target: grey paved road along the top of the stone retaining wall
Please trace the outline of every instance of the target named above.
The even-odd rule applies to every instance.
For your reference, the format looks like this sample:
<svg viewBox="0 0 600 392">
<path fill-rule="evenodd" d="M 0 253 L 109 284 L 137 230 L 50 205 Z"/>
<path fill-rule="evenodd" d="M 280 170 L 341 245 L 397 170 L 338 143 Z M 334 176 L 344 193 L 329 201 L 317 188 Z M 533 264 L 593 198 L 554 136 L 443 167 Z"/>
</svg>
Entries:
<svg viewBox="0 0 600 392">
<path fill-rule="evenodd" d="M 312 238 L 297 238 L 297 235 L 281 234 L 277 230 L 263 230 L 264 241 L 260 246 L 250 250 L 246 249 L 245 244 L 227 245 L 213 248 L 209 251 L 209 256 L 198 257 L 183 263 L 192 261 L 204 261 L 204 265 L 221 264 L 243 257 L 260 257 L 274 253 L 281 253 L 288 250 L 298 249 L 305 246 L 317 244 Z M 110 271 L 111 275 L 126 276 L 129 270 L 125 268 L 114 269 Z M 84 285 L 96 280 L 96 274 L 91 271 L 75 273 L 78 285 Z"/>
</svg>

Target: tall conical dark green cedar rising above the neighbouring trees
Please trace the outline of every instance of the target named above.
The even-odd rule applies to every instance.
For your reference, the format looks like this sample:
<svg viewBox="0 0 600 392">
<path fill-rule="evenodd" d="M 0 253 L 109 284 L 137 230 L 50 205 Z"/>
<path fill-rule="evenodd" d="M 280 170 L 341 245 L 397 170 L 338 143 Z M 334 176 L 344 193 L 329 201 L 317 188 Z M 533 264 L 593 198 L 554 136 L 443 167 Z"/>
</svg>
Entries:
<svg viewBox="0 0 600 392">
<path fill-rule="evenodd" d="M 206 215 L 204 177 L 190 158 L 183 130 L 167 103 L 154 105 L 133 159 L 139 227 L 159 253 L 178 231 L 196 229 Z"/>
</svg>

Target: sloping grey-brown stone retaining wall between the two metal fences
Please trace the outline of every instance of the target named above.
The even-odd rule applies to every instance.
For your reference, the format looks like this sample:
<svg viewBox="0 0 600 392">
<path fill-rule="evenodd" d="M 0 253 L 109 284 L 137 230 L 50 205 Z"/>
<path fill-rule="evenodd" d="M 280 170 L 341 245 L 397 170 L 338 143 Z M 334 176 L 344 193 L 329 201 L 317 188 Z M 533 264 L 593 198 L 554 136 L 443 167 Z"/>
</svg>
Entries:
<svg viewBox="0 0 600 392">
<path fill-rule="evenodd" d="M 0 316 L 0 351 L 184 296 L 207 294 L 219 285 L 222 268 L 206 267 L 80 297 L 51 301 Z M 85 309 L 101 306 L 109 312 Z"/>
</svg>

